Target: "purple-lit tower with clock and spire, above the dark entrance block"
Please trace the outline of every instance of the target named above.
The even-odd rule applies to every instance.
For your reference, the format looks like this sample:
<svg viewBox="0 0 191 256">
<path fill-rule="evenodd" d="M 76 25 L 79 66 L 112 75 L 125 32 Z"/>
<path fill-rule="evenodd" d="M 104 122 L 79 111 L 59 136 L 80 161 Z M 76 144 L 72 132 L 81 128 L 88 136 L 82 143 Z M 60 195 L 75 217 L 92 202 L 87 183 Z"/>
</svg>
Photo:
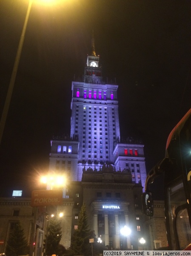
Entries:
<svg viewBox="0 0 191 256">
<path fill-rule="evenodd" d="M 120 139 L 117 88 L 115 82 L 103 80 L 92 37 L 83 80 L 72 82 L 70 137 L 51 141 L 51 170 L 63 170 L 71 180 L 81 181 L 83 170 L 99 171 L 110 164 L 114 171 L 131 170 L 132 182 L 144 186 L 143 145 Z"/>
</svg>

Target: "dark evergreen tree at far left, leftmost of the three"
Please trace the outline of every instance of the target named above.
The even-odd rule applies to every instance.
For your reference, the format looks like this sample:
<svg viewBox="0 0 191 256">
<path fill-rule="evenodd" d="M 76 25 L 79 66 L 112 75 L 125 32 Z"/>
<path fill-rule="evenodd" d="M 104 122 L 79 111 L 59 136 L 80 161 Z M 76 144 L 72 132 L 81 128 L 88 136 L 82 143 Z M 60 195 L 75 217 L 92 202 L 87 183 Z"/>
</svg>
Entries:
<svg viewBox="0 0 191 256">
<path fill-rule="evenodd" d="M 7 256 L 26 255 L 29 253 L 29 246 L 24 236 L 24 230 L 18 222 L 9 236 L 6 246 Z"/>
</svg>

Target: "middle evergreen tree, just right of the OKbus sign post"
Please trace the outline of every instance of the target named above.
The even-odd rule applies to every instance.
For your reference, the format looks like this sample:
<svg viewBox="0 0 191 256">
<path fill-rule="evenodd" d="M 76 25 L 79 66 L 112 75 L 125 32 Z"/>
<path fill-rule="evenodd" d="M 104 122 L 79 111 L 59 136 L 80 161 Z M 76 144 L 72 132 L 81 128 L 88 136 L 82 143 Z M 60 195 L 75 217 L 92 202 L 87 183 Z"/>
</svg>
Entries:
<svg viewBox="0 0 191 256">
<path fill-rule="evenodd" d="M 49 220 L 48 236 L 44 240 L 46 244 L 46 255 L 61 255 L 63 248 L 60 246 L 60 240 L 62 238 L 61 223 L 56 217 Z"/>
</svg>

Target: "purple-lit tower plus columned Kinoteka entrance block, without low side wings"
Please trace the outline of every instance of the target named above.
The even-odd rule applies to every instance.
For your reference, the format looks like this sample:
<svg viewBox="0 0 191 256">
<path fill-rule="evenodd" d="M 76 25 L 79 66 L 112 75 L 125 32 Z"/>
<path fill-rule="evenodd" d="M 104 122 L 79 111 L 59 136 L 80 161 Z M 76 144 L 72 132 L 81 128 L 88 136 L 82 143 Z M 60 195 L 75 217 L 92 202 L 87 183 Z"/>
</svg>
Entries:
<svg viewBox="0 0 191 256">
<path fill-rule="evenodd" d="M 63 197 L 74 201 L 68 240 L 63 236 L 66 247 L 70 233 L 77 228 L 83 202 L 89 227 L 110 248 L 124 246 L 120 229 L 125 225 L 131 229 L 131 236 L 127 241 L 125 238 L 128 248 L 138 248 L 144 234 L 144 145 L 131 137 L 120 137 L 117 88 L 116 83 L 103 81 L 99 56 L 92 47 L 83 81 L 72 82 L 70 136 L 51 141 L 49 170 L 66 175 Z"/>
</svg>

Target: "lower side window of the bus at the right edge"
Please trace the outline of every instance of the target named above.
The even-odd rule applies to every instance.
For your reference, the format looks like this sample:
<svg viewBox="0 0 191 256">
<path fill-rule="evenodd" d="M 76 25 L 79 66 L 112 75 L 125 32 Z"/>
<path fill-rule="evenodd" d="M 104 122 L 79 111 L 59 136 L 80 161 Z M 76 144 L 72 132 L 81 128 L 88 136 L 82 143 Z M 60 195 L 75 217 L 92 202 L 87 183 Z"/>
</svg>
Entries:
<svg viewBox="0 0 191 256">
<path fill-rule="evenodd" d="M 168 216 L 172 250 L 183 249 L 191 241 L 191 228 L 188 219 L 188 204 L 182 180 L 168 188 Z"/>
</svg>

